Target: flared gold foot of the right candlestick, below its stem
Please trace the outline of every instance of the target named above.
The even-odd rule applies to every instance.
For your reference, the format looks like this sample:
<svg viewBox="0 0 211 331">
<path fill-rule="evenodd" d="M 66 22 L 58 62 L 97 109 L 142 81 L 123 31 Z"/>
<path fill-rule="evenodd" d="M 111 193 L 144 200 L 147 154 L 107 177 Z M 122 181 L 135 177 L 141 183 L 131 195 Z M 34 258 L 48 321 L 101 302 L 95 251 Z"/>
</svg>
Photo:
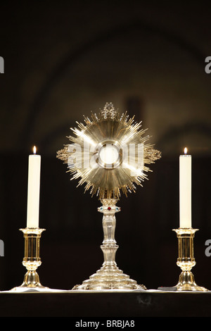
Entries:
<svg viewBox="0 0 211 331">
<path fill-rule="evenodd" d="M 179 282 L 175 287 L 177 287 L 177 291 L 208 291 L 208 289 L 206 289 L 205 287 L 196 285 L 193 273 L 191 273 L 191 271 L 183 271 L 179 275 Z"/>
</svg>

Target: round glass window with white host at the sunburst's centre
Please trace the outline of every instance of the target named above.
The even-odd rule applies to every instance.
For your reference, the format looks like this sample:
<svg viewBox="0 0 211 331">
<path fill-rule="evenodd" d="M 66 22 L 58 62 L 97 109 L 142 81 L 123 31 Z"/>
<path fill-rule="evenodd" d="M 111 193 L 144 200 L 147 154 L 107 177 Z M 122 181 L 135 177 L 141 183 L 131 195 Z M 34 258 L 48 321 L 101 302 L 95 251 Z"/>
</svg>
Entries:
<svg viewBox="0 0 211 331">
<path fill-rule="evenodd" d="M 120 147 L 114 142 L 104 142 L 98 146 L 98 164 L 102 168 L 116 168 L 120 164 Z"/>
</svg>

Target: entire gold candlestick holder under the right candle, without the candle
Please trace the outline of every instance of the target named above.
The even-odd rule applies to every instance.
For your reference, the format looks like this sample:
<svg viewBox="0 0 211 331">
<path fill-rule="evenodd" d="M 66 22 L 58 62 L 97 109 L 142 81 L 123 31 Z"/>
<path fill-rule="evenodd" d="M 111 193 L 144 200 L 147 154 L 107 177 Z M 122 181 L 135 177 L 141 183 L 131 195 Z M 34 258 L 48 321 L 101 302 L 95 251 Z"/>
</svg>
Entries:
<svg viewBox="0 0 211 331">
<path fill-rule="evenodd" d="M 198 229 L 192 227 L 185 227 L 174 229 L 178 238 L 179 257 L 177 258 L 177 266 L 181 268 L 179 275 L 179 282 L 176 285 L 177 291 L 202 291 L 207 292 L 205 287 L 196 285 L 191 269 L 196 265 L 193 257 L 193 238 Z"/>
</svg>

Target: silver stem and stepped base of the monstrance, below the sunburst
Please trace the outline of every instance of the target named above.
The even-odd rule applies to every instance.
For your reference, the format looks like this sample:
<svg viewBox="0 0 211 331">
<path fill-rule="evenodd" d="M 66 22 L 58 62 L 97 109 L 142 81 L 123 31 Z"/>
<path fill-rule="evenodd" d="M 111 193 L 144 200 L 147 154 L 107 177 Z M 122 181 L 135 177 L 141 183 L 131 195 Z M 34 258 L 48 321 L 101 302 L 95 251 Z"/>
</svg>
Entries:
<svg viewBox="0 0 211 331">
<path fill-rule="evenodd" d="M 125 275 L 115 262 L 118 249 L 115 241 L 115 213 L 120 211 L 120 208 L 115 206 L 117 199 L 102 199 L 101 203 L 103 206 L 99 207 L 98 211 L 103 213 L 103 244 L 101 245 L 103 266 L 91 275 L 89 280 L 84 280 L 82 285 L 75 285 L 73 289 L 146 289 L 144 285 L 138 285 L 135 280 Z"/>
</svg>

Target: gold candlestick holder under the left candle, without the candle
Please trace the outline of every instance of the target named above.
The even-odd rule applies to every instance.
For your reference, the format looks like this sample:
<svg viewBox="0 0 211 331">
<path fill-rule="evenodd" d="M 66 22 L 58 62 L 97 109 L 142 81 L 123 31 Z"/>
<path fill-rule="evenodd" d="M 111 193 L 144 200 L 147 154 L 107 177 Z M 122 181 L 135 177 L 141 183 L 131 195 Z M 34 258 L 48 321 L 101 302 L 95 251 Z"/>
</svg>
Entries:
<svg viewBox="0 0 211 331">
<path fill-rule="evenodd" d="M 39 281 L 39 275 L 37 268 L 41 266 L 41 258 L 39 257 L 39 240 L 41 238 L 41 232 L 45 229 L 39 227 L 31 228 L 26 227 L 20 229 L 23 232 L 25 238 L 25 257 L 23 258 L 23 266 L 27 269 L 22 285 L 14 287 L 13 291 L 20 289 L 48 289 L 44 287 Z"/>
</svg>

